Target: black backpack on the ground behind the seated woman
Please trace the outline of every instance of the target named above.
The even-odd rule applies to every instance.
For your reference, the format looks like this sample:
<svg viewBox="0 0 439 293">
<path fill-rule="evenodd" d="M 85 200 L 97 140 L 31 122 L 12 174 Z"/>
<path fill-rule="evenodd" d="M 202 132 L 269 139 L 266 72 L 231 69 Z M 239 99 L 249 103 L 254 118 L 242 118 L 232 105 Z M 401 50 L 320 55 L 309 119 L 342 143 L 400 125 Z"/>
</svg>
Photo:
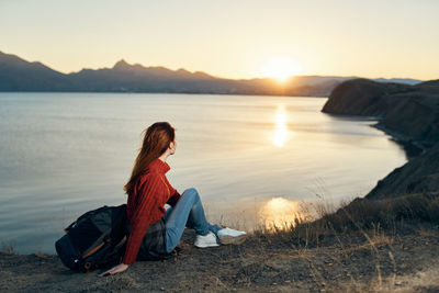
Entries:
<svg viewBox="0 0 439 293">
<path fill-rule="evenodd" d="M 89 272 L 120 262 L 126 243 L 126 204 L 87 212 L 55 243 L 63 263 Z"/>
</svg>

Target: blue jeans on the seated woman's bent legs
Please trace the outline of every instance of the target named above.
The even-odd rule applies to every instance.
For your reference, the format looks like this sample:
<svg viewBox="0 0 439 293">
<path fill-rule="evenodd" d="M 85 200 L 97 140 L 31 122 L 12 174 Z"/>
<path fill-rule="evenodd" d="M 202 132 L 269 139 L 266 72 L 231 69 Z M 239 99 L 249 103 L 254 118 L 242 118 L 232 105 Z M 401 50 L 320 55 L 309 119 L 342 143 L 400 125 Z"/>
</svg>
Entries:
<svg viewBox="0 0 439 293">
<path fill-rule="evenodd" d="M 166 211 L 165 227 L 168 252 L 178 245 L 184 227 L 194 229 L 198 235 L 206 235 L 210 230 L 216 235 L 221 229 L 218 225 L 207 222 L 200 195 L 193 188 L 184 190 L 177 204 Z"/>
</svg>

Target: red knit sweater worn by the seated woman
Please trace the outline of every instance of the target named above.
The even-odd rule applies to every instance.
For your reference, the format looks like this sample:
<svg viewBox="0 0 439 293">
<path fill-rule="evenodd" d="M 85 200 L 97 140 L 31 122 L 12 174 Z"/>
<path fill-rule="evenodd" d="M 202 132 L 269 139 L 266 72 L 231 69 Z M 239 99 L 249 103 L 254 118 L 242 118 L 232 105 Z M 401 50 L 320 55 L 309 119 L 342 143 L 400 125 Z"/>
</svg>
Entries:
<svg viewBox="0 0 439 293">
<path fill-rule="evenodd" d="M 166 172 L 169 170 L 167 162 L 155 159 L 143 171 L 134 192 L 128 195 L 126 215 L 130 221 L 130 237 L 122 260 L 125 264 L 136 261 L 146 229 L 166 213 L 165 203 L 175 206 L 180 199 L 180 193 L 166 178 Z"/>
</svg>

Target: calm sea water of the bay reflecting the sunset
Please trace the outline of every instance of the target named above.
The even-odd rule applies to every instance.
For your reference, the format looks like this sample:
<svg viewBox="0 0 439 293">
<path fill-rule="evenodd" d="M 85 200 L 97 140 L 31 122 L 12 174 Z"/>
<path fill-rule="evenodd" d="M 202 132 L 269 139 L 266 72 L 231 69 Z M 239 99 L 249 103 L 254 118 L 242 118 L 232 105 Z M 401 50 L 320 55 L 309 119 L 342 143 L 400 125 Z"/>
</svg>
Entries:
<svg viewBox="0 0 439 293">
<path fill-rule="evenodd" d="M 156 121 L 177 128 L 168 179 L 180 192 L 196 188 L 212 222 L 252 229 L 300 202 L 362 196 L 404 151 L 373 121 L 320 113 L 325 101 L 0 93 L 0 240 L 54 252 L 79 215 L 124 203 L 140 132 Z"/>
</svg>

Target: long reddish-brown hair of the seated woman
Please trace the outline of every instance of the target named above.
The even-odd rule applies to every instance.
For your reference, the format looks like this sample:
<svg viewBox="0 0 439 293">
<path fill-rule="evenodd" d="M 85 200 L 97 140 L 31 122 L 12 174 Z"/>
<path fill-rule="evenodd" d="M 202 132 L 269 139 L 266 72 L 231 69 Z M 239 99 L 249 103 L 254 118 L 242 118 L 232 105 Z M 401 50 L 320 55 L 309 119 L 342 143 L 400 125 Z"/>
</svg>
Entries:
<svg viewBox="0 0 439 293">
<path fill-rule="evenodd" d="M 134 161 L 133 171 L 128 182 L 124 185 L 126 194 L 134 191 L 138 176 L 148 165 L 160 157 L 176 138 L 176 129 L 168 122 L 156 122 L 143 131 L 145 137 L 142 148 Z"/>
</svg>

